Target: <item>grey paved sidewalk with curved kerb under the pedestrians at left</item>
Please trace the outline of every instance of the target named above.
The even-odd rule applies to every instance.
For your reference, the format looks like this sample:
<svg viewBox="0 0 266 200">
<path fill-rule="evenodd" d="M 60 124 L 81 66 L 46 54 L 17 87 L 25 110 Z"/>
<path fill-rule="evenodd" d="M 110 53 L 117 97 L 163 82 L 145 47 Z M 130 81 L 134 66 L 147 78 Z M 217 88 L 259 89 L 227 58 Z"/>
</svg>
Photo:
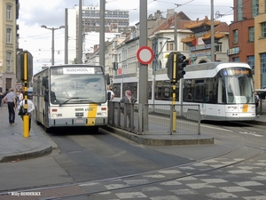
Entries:
<svg viewBox="0 0 266 200">
<path fill-rule="evenodd" d="M 23 122 L 16 110 L 15 125 L 8 121 L 6 104 L 0 109 L 0 163 L 16 162 L 51 153 L 51 142 L 34 121 L 31 122 L 30 137 L 23 137 Z"/>
</svg>

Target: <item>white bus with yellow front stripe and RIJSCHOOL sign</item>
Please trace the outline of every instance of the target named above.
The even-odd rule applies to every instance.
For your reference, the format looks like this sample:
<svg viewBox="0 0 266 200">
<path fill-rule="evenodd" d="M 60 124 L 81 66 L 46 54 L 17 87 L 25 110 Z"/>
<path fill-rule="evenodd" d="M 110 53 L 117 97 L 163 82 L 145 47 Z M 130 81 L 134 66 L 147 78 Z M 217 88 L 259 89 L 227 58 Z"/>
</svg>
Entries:
<svg viewBox="0 0 266 200">
<path fill-rule="evenodd" d="M 46 132 L 53 127 L 107 125 L 104 68 L 93 65 L 51 66 L 35 74 L 35 120 Z"/>
</svg>

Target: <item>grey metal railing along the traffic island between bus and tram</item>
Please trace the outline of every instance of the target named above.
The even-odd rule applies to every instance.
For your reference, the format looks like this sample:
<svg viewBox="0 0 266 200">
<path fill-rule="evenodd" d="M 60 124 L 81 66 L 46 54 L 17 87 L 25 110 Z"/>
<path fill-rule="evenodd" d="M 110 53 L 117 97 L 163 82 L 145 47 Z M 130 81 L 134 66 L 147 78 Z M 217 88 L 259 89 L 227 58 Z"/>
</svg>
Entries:
<svg viewBox="0 0 266 200">
<path fill-rule="evenodd" d="M 200 134 L 199 105 L 108 102 L 109 125 L 137 134 Z"/>
</svg>

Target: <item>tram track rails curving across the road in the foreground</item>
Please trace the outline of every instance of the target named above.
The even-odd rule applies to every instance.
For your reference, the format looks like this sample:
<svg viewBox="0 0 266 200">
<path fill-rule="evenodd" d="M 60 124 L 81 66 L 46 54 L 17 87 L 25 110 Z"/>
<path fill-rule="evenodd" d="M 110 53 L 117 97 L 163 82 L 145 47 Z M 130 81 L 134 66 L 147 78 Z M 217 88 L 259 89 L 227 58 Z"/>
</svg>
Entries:
<svg viewBox="0 0 266 200">
<path fill-rule="evenodd" d="M 237 132 L 235 132 L 237 133 Z M 136 185 L 129 185 L 127 187 L 121 187 L 121 188 L 106 188 L 106 189 L 101 189 L 101 190 L 94 190 L 94 191 L 90 191 L 90 192 L 83 192 L 83 193 L 77 193 L 77 194 L 69 194 L 69 195 L 65 195 L 65 196 L 47 196 L 45 197 L 45 200 L 53 200 L 53 199 L 74 199 L 74 197 L 78 197 L 78 196 L 94 196 L 100 193 L 106 193 L 106 192 L 113 192 L 113 191 L 117 191 L 117 190 L 124 190 L 124 189 L 130 189 L 130 188 L 138 188 L 138 187 L 144 187 L 144 186 L 153 186 L 156 184 L 160 184 L 163 182 L 168 182 L 171 180 L 180 180 L 180 179 L 184 179 L 184 178 L 188 178 L 188 177 L 193 177 L 193 176 L 197 176 L 200 174 L 204 174 L 204 173 L 210 173 L 210 172 L 215 172 L 215 171 L 219 171 L 219 170 L 225 170 L 228 167 L 231 167 L 232 165 L 235 164 L 241 164 L 244 163 L 250 159 L 254 159 L 255 157 L 258 156 L 262 156 L 265 155 L 266 150 L 265 149 L 260 149 L 260 148 L 255 148 L 255 147 L 251 147 L 251 146 L 246 146 L 246 141 L 248 140 L 248 137 L 246 137 L 246 135 L 242 135 L 243 137 L 245 137 L 245 142 L 239 144 L 239 146 L 237 146 L 236 148 L 233 148 L 227 152 L 224 152 L 223 154 L 220 155 L 216 155 L 216 156 L 210 156 L 189 164 L 180 164 L 180 165 L 176 165 L 176 166 L 171 166 L 168 168 L 163 168 L 160 170 L 156 170 L 156 171 L 150 171 L 150 172 L 142 172 L 142 173 L 136 173 L 136 174 L 129 174 L 129 175 L 125 175 L 125 176 L 120 176 L 120 177 L 114 177 L 114 178 L 110 178 L 110 179 L 106 179 L 106 180 L 90 180 L 90 181 L 82 181 L 82 182 L 73 182 L 73 183 L 66 183 L 64 185 L 53 185 L 53 186 L 43 186 L 43 187 L 38 187 L 38 188 L 19 188 L 16 189 L 15 192 L 41 192 L 42 194 L 45 193 L 49 193 L 49 190 L 56 190 L 56 189 L 62 189 L 62 188 L 74 188 L 74 187 L 86 187 L 89 186 L 91 184 L 97 184 L 99 182 L 111 182 L 113 180 L 129 180 L 129 179 L 134 179 L 137 177 L 141 177 L 141 176 L 149 176 L 152 174 L 157 174 L 160 173 L 162 171 L 173 171 L 176 170 L 178 172 L 182 172 L 182 173 L 176 173 L 176 174 L 172 174 L 172 176 L 165 178 L 165 179 L 160 179 L 160 180 L 153 180 L 153 181 L 149 181 L 147 183 L 143 183 L 143 184 L 136 184 Z M 249 156 L 246 157 L 242 157 L 239 159 L 234 159 L 234 154 L 237 153 L 238 151 L 241 151 L 243 148 L 249 148 L 253 149 L 253 153 Z M 204 171 L 200 171 L 197 170 L 197 166 L 201 165 L 201 164 L 207 164 L 208 161 L 210 160 L 218 160 L 218 159 L 223 159 L 223 158 L 227 158 L 229 160 L 231 160 L 231 162 L 229 162 L 229 164 L 223 164 L 223 165 L 219 165 L 217 167 L 210 167 L 208 166 L 206 170 Z M 185 168 L 195 168 L 196 170 L 194 172 L 185 172 Z M 9 196 L 10 192 L 14 192 L 12 191 L 2 191 L 0 192 L 0 197 L 1 196 Z M 1 197 L 2 199 L 2 197 Z"/>
</svg>

